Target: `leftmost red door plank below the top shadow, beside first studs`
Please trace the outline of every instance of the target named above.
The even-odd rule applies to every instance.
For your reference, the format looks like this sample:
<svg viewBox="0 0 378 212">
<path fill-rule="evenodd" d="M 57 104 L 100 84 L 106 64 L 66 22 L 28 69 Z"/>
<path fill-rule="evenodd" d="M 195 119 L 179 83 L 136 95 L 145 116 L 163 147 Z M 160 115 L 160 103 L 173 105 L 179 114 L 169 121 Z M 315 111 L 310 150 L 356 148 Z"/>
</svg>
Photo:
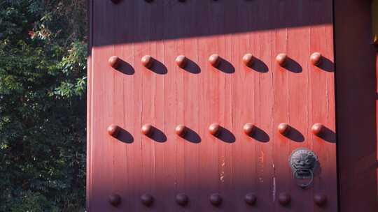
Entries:
<svg viewBox="0 0 378 212">
<path fill-rule="evenodd" d="M 93 192 L 94 192 L 94 208 L 102 210 L 109 210 L 109 205 L 104 205 L 104 197 L 111 194 L 114 191 L 113 186 L 113 165 L 112 165 L 112 139 L 108 137 L 106 132 L 107 126 L 112 122 L 111 116 L 113 114 L 113 75 L 109 75 L 109 67 L 107 63 L 104 63 L 102 59 L 109 57 L 112 47 L 96 48 L 92 52 L 92 56 L 95 62 L 94 71 L 97 71 L 97 76 L 94 77 L 94 86 L 99 88 L 99 91 L 94 93 L 94 107 L 98 110 L 94 111 L 94 132 L 97 132 L 93 142 L 97 144 L 94 146 L 93 154 L 97 156 L 93 158 L 94 170 L 93 174 Z M 110 157 L 109 157 L 110 156 Z M 100 158 L 102 158 L 100 160 Z M 106 170 L 106 172 L 102 172 Z M 110 173 L 110 174 L 109 174 Z M 103 186 L 108 185 L 108 186 Z"/>
</svg>

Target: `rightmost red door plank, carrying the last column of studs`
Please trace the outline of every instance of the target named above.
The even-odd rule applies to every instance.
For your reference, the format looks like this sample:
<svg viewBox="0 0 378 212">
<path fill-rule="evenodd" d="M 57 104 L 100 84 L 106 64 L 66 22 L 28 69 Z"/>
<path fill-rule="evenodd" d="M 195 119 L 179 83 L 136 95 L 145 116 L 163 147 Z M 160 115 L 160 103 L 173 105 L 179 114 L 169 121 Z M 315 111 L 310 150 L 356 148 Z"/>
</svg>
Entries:
<svg viewBox="0 0 378 212">
<path fill-rule="evenodd" d="M 332 20 L 331 3 L 326 1 L 311 2 L 311 22 L 316 19 Z M 336 149 L 335 149 L 335 89 L 333 73 L 333 32 L 332 24 L 310 27 L 310 54 L 320 52 L 323 55 L 319 66 L 309 63 L 311 90 L 310 128 L 314 123 L 322 123 L 326 128 L 325 139 L 311 134 L 314 152 L 319 158 L 321 174 L 314 179 L 314 194 L 326 195 L 329 204 L 319 207 L 314 204 L 314 211 L 337 211 Z"/>
</svg>

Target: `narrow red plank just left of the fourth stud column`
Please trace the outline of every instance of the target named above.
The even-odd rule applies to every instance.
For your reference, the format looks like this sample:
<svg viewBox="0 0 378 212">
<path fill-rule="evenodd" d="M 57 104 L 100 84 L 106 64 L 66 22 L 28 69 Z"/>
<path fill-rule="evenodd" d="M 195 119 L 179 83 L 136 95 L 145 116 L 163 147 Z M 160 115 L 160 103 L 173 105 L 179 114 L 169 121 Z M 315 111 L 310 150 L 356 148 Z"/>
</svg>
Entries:
<svg viewBox="0 0 378 212">
<path fill-rule="evenodd" d="M 202 3 L 201 3 L 202 4 Z M 214 33 L 217 26 L 217 19 L 214 17 L 216 15 L 216 4 L 218 2 L 204 1 L 202 11 L 204 16 L 203 24 L 205 31 L 209 33 Z M 206 27 L 206 26 L 211 27 Z M 207 59 L 211 54 L 216 54 L 218 52 L 218 39 L 216 37 L 204 37 L 199 39 L 199 45 L 202 47 L 199 50 L 200 55 L 200 67 L 204 67 L 204 73 L 201 77 L 202 79 L 202 100 L 200 100 L 200 115 L 204 120 L 202 125 L 202 135 L 204 136 L 204 142 L 200 144 L 201 151 L 203 152 L 200 156 L 202 160 L 200 173 L 206 178 L 201 177 L 202 185 L 204 185 L 204 190 L 201 190 L 202 197 L 200 199 L 202 211 L 216 211 L 216 208 L 209 204 L 209 196 L 211 193 L 220 193 L 219 190 L 219 175 L 218 175 L 218 148 L 220 141 L 218 138 L 209 134 L 209 125 L 211 123 L 219 123 L 219 107 L 218 98 L 218 77 L 219 73 L 217 68 L 212 67 Z M 222 123 L 220 123 L 222 124 Z M 223 195 L 220 193 L 220 195 Z"/>
</svg>

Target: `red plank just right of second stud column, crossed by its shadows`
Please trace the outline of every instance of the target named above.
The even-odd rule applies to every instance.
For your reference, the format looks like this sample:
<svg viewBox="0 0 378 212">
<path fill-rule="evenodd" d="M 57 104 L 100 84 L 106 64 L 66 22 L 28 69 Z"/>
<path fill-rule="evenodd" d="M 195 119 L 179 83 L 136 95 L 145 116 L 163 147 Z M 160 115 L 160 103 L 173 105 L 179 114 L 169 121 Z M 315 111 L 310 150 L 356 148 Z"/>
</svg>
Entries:
<svg viewBox="0 0 378 212">
<path fill-rule="evenodd" d="M 165 78 L 170 75 L 169 70 L 165 65 L 165 40 L 164 38 L 164 27 L 160 24 L 153 24 L 153 22 L 162 23 L 164 22 L 164 1 L 156 1 L 154 3 L 149 3 L 148 7 L 151 8 L 151 25 L 149 33 L 155 35 L 155 40 L 150 40 L 150 52 L 151 56 L 155 59 L 152 68 L 148 71 L 152 73 L 152 78 L 146 80 L 146 83 L 152 83 L 151 93 L 154 93 L 151 102 L 146 103 L 146 105 L 153 105 L 153 116 L 151 120 L 153 126 L 155 127 L 155 132 L 151 142 L 153 143 L 153 175 L 155 179 L 153 180 L 153 196 L 155 202 L 153 209 L 155 211 L 167 211 L 167 205 L 169 204 L 168 190 L 172 190 L 172 187 L 168 183 L 171 183 L 171 177 L 169 176 L 170 170 L 167 173 L 167 163 L 169 163 L 167 158 L 167 151 L 170 149 L 170 144 L 167 140 L 167 132 L 169 129 L 166 128 L 166 123 L 169 123 L 169 119 L 165 120 Z M 167 61 L 168 63 L 168 61 Z M 172 132 L 172 131 L 171 131 Z"/>
</svg>

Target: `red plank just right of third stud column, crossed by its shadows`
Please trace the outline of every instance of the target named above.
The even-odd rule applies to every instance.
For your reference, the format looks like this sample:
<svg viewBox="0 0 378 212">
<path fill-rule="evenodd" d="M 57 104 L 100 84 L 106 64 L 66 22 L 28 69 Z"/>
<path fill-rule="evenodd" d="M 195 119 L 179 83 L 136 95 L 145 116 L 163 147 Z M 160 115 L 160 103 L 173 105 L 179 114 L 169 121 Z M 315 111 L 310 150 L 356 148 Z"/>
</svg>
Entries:
<svg viewBox="0 0 378 212">
<path fill-rule="evenodd" d="M 181 33 L 188 33 L 190 31 L 197 30 L 197 22 L 195 22 L 195 17 L 198 13 L 197 6 L 195 4 L 184 4 L 181 6 L 181 12 L 183 18 L 180 22 L 181 25 L 186 26 L 185 31 Z M 184 211 L 200 211 L 200 202 L 202 195 L 199 195 L 202 191 L 202 172 L 200 172 L 200 163 L 202 162 L 200 155 L 202 154 L 202 148 L 200 145 L 206 142 L 202 133 L 206 132 L 204 130 L 204 123 L 202 119 L 201 99 L 203 95 L 202 85 L 200 84 L 200 78 L 204 73 L 204 69 L 200 67 L 200 61 L 203 61 L 203 58 L 200 58 L 199 51 L 200 47 L 198 45 L 198 38 L 187 38 L 183 39 L 179 45 L 179 54 L 182 54 L 188 57 L 190 62 L 187 64 L 186 70 L 178 70 L 181 77 L 181 83 L 178 82 L 178 89 L 181 91 L 181 95 L 178 96 L 178 102 L 180 105 L 180 115 L 181 120 L 185 123 L 188 128 L 190 128 L 190 134 L 186 140 L 183 140 L 184 148 L 184 174 L 185 178 L 183 183 L 184 190 L 190 198 L 189 205 L 186 206 Z M 202 132 L 202 133 L 201 133 Z"/>
</svg>

